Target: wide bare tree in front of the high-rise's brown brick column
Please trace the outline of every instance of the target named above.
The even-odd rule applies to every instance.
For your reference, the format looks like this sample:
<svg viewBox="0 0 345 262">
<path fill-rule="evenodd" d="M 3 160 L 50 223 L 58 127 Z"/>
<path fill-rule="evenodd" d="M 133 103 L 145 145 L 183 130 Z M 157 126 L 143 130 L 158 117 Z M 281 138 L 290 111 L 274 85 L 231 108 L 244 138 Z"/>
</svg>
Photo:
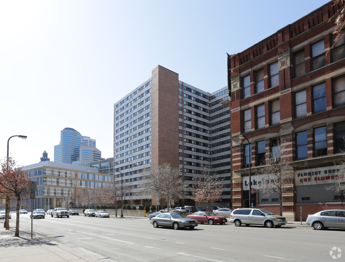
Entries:
<svg viewBox="0 0 345 262">
<path fill-rule="evenodd" d="M 187 183 L 180 178 L 180 169 L 171 167 L 168 163 L 152 166 L 146 170 L 145 182 L 143 185 L 144 195 L 152 198 L 165 198 L 170 209 L 171 199 L 181 199 L 184 197 L 184 191 Z"/>
</svg>

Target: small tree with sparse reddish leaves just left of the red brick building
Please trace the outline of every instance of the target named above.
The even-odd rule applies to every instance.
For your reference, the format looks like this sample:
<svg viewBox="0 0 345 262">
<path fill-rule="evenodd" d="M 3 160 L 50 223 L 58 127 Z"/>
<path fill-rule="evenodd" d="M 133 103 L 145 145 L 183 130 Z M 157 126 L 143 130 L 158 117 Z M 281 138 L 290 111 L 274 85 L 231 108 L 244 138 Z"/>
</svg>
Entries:
<svg viewBox="0 0 345 262">
<path fill-rule="evenodd" d="M 224 190 L 224 179 L 220 179 L 217 173 L 211 173 L 208 165 L 204 164 L 197 179 L 197 188 L 193 189 L 195 202 L 207 202 L 207 211 L 210 203 L 219 201 Z"/>
</svg>

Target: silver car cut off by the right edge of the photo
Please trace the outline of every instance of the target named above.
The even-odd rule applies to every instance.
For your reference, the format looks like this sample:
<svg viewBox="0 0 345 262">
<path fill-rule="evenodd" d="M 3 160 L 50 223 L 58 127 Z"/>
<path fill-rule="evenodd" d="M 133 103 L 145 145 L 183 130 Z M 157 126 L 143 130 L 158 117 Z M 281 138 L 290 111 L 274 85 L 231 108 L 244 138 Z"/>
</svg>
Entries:
<svg viewBox="0 0 345 262">
<path fill-rule="evenodd" d="M 345 210 L 323 210 L 315 214 L 309 214 L 305 222 L 316 230 L 323 228 L 345 228 Z"/>
</svg>

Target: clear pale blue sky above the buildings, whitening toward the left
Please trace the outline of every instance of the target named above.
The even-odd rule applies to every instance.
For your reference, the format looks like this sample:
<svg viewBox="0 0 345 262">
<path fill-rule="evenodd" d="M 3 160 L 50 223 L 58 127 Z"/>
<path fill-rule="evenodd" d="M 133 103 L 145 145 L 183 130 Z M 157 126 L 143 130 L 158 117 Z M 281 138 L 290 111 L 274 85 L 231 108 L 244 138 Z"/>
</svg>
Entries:
<svg viewBox="0 0 345 262">
<path fill-rule="evenodd" d="M 0 159 L 54 160 L 76 129 L 113 157 L 114 104 L 157 65 L 207 92 L 242 52 L 325 0 L 0 0 Z"/>
</svg>

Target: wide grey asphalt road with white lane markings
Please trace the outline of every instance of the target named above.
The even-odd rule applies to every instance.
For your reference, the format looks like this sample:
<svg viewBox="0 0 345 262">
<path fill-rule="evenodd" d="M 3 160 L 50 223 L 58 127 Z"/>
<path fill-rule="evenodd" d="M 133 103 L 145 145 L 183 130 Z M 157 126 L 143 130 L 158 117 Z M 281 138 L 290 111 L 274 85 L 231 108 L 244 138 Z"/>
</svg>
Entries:
<svg viewBox="0 0 345 262">
<path fill-rule="evenodd" d="M 16 215 L 12 213 L 12 226 Z M 29 214 L 20 225 L 31 230 Z M 70 216 L 33 221 L 33 233 L 102 254 L 102 261 L 326 261 L 333 247 L 345 253 L 345 230 L 235 227 L 153 228 L 148 218 Z M 338 255 L 338 249 L 333 250 Z M 109 258 L 107 260 L 106 258 Z M 345 260 L 345 254 L 340 261 Z"/>
</svg>

